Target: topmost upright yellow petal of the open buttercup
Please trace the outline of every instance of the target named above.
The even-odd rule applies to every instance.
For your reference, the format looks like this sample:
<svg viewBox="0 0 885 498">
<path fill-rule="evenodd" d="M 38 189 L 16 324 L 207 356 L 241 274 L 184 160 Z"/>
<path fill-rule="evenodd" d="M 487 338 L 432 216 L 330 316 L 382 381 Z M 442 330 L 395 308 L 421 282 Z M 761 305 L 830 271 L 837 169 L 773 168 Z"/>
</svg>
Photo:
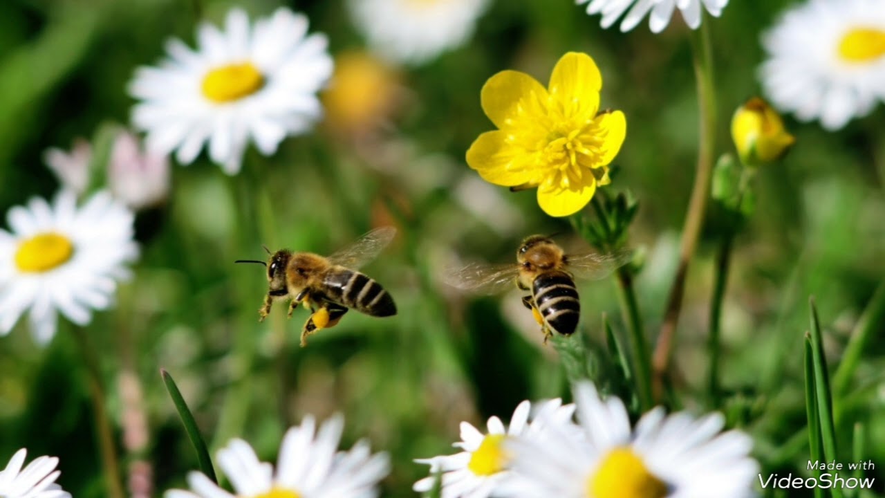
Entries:
<svg viewBox="0 0 885 498">
<path fill-rule="evenodd" d="M 550 74 L 551 100 L 568 118 L 592 119 L 599 109 L 599 90 L 602 88 L 603 76 L 593 59 L 585 53 L 566 53 Z"/>
</svg>

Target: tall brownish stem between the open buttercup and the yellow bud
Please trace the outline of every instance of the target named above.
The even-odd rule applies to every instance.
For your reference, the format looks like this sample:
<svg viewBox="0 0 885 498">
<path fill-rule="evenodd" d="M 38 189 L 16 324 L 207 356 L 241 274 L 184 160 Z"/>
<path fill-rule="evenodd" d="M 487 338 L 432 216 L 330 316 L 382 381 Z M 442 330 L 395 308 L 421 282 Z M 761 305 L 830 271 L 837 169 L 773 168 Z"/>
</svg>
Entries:
<svg viewBox="0 0 885 498">
<path fill-rule="evenodd" d="M 695 184 L 692 187 L 689 211 L 686 214 L 685 226 L 682 230 L 679 266 L 670 288 L 664 322 L 661 325 L 658 345 L 655 348 L 652 364 L 655 370 L 654 394 L 660 398 L 664 392 L 664 382 L 670 366 L 676 325 L 679 322 L 682 307 L 682 295 L 685 291 L 685 279 L 689 272 L 689 261 L 695 253 L 697 239 L 700 237 L 704 222 L 707 198 L 710 196 L 710 179 L 712 176 L 713 150 L 716 146 L 716 98 L 713 86 L 712 53 L 710 34 L 707 22 L 692 33 L 692 51 L 694 52 L 695 78 L 697 84 L 697 100 L 700 134 L 698 136 L 697 169 Z"/>
</svg>

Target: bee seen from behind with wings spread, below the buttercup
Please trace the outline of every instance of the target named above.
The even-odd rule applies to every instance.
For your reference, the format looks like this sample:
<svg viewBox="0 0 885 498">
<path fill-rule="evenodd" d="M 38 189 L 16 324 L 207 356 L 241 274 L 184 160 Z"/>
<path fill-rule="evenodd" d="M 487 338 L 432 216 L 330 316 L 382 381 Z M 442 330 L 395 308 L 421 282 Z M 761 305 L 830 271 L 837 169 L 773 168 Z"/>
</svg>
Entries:
<svg viewBox="0 0 885 498">
<path fill-rule="evenodd" d="M 598 280 L 630 261 L 632 252 L 566 254 L 550 237 L 533 235 L 519 245 L 517 264 L 468 265 L 446 281 L 476 293 L 497 293 L 512 284 L 523 291 L 522 304 L 541 325 L 544 343 L 553 332 L 571 335 L 581 318 L 581 301 L 574 278 Z"/>
</svg>

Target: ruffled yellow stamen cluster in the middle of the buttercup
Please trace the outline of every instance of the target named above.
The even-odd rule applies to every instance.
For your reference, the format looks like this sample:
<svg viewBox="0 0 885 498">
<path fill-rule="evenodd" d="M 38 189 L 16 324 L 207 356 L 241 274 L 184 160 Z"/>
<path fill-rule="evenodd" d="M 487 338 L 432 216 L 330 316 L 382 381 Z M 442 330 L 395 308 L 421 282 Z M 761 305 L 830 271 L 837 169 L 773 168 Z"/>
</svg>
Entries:
<svg viewBox="0 0 885 498">
<path fill-rule="evenodd" d="M 564 191 L 571 185 L 581 185 L 584 175 L 596 175 L 586 163 L 602 154 L 603 136 L 600 133 L 592 126 L 550 133 L 541 153 L 541 160 L 548 168 L 543 187 Z M 598 173 L 601 177 L 604 168 Z"/>
</svg>

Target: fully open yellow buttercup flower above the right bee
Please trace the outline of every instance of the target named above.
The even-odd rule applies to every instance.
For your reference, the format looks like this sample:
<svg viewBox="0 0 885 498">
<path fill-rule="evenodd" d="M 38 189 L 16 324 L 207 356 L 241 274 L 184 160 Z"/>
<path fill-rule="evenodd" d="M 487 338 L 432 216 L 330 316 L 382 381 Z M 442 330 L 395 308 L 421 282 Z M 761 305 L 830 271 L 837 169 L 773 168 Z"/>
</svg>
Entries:
<svg viewBox="0 0 885 498">
<path fill-rule="evenodd" d="M 568 216 L 609 180 L 609 164 L 627 135 L 620 111 L 599 111 L 602 75 L 587 54 L 568 52 L 546 89 L 518 71 L 495 74 L 482 87 L 482 110 L 495 131 L 480 135 L 467 164 L 489 183 L 537 187 L 538 205 Z"/>
</svg>

